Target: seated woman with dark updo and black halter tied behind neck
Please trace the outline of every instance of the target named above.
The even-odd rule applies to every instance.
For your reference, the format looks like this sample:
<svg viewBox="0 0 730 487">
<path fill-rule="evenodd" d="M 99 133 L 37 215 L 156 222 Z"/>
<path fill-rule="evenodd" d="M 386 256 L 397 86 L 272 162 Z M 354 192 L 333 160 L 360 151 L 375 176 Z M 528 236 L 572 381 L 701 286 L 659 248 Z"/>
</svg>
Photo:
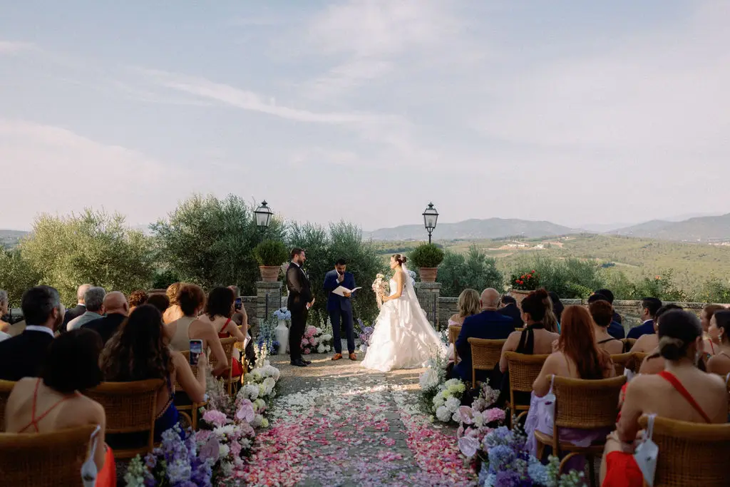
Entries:
<svg viewBox="0 0 730 487">
<path fill-rule="evenodd" d="M 505 352 L 526 353 L 528 355 L 547 355 L 553 351 L 553 342 L 558 340 L 560 335 L 545 329 L 542 322 L 548 307 L 545 304 L 545 297 L 548 296 L 545 289 L 538 289 L 528 294 L 522 300 L 522 318 L 527 323 L 523 331 L 513 331 L 507 342 L 502 347 L 502 357 L 499 359 L 499 369 L 507 372 L 507 357 Z M 550 308 L 552 312 L 552 308 Z"/>
</svg>

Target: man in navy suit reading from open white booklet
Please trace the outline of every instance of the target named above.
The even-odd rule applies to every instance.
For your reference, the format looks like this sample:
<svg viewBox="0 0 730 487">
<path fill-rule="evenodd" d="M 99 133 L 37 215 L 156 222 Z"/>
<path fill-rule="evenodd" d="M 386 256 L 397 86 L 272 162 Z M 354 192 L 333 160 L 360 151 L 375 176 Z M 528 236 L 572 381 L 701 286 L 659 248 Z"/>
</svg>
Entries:
<svg viewBox="0 0 730 487">
<path fill-rule="evenodd" d="M 357 360 L 355 355 L 355 331 L 353 330 L 353 302 L 352 294 L 348 291 L 342 292 L 342 296 L 334 293 L 335 289 L 342 286 L 347 290 L 355 289 L 355 277 L 352 272 L 347 272 L 347 261 L 340 258 L 334 264 L 334 269 L 324 277 L 324 292 L 327 294 L 327 312 L 332 323 L 332 336 L 334 338 L 334 356 L 332 360 L 342 358 L 342 334 L 341 327 L 345 327 L 347 336 L 347 353 L 350 360 Z"/>
</svg>

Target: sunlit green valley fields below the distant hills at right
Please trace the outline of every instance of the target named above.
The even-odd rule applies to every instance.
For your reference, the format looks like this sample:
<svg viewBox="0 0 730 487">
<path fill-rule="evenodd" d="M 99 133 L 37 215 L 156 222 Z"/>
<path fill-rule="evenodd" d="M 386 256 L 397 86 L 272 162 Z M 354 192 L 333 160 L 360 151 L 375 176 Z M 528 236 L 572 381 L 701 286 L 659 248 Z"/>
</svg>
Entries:
<svg viewBox="0 0 730 487">
<path fill-rule="evenodd" d="M 407 253 L 420 242 L 374 242 L 381 253 Z M 685 289 L 696 288 L 712 277 L 730 277 L 730 246 L 669 242 L 665 240 L 640 239 L 609 235 L 577 234 L 567 237 L 519 240 L 527 248 L 508 248 L 518 245 L 510 240 L 451 240 L 439 241 L 447 250 L 464 253 L 471 245 L 497 259 L 503 272 L 509 272 L 520 259 L 534 253 L 554 258 L 591 258 L 602 264 L 615 266 L 629 277 L 658 275 L 668 270 L 674 272 L 677 285 Z M 542 245 L 542 249 L 536 249 Z M 502 248 L 502 249 L 501 249 Z M 387 251 L 386 251 L 387 250 Z"/>
</svg>

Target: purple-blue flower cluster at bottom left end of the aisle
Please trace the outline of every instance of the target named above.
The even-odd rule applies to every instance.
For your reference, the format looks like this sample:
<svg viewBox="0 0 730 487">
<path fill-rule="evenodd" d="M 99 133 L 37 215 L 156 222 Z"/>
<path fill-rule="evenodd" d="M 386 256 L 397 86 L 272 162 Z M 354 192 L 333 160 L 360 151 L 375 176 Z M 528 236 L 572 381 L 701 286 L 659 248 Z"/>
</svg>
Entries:
<svg viewBox="0 0 730 487">
<path fill-rule="evenodd" d="M 211 454 L 211 456 L 208 455 Z M 212 486 L 212 466 L 218 452 L 198 449 L 195 435 L 183 434 L 175 425 L 162 434 L 162 442 L 152 453 L 135 456 L 129 462 L 124 481 L 128 487 Z"/>
</svg>

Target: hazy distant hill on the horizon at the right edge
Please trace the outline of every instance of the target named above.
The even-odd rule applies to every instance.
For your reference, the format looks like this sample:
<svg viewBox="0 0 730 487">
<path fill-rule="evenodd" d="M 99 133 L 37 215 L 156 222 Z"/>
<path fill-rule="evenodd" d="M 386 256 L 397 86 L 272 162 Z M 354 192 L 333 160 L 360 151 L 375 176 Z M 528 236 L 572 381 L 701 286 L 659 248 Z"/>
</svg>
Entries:
<svg viewBox="0 0 730 487">
<path fill-rule="evenodd" d="M 678 240 L 680 242 L 725 242 L 730 241 L 730 213 L 689 218 L 677 222 L 653 220 L 610 233 L 627 237 Z"/>
</svg>

